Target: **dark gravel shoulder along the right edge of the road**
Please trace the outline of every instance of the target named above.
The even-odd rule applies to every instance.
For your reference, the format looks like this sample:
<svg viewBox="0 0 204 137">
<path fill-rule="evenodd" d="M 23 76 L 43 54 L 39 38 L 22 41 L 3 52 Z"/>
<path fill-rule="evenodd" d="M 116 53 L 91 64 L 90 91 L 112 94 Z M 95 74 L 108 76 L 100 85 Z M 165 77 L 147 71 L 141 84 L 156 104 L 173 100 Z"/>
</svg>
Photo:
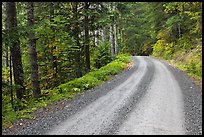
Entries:
<svg viewBox="0 0 204 137">
<path fill-rule="evenodd" d="M 172 72 L 181 87 L 184 101 L 186 135 L 202 135 L 202 88 L 190 80 L 181 70 L 161 60 Z"/>
</svg>

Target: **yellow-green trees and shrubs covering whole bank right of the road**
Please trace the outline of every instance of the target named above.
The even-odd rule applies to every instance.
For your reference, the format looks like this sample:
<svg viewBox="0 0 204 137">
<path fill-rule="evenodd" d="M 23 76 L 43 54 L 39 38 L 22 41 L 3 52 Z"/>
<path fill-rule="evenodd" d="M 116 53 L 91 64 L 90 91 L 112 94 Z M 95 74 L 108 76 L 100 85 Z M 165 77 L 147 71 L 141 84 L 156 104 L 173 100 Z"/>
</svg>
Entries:
<svg viewBox="0 0 204 137">
<path fill-rule="evenodd" d="M 202 3 L 168 3 L 164 11 L 166 19 L 153 44 L 152 56 L 168 60 L 201 84 Z"/>
</svg>

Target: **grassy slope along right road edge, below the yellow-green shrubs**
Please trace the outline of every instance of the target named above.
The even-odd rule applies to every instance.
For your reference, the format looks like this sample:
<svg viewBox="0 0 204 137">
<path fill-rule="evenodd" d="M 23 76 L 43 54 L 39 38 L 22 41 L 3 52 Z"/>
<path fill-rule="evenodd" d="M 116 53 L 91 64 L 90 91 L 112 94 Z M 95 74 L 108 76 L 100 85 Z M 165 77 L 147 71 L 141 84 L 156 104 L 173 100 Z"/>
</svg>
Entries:
<svg viewBox="0 0 204 137">
<path fill-rule="evenodd" d="M 154 56 L 154 55 L 153 55 Z M 199 87 L 202 87 L 202 48 L 197 46 L 194 49 L 180 49 L 176 51 L 171 58 L 166 59 L 163 56 L 154 56 L 159 59 L 165 59 L 173 66 L 186 72 L 186 74 Z"/>
</svg>

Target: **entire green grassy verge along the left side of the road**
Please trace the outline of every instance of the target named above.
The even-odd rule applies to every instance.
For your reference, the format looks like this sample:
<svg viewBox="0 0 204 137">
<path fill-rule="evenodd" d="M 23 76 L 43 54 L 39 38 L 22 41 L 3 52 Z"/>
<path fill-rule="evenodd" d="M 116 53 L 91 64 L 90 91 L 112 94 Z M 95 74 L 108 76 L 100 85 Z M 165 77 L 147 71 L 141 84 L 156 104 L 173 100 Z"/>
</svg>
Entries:
<svg viewBox="0 0 204 137">
<path fill-rule="evenodd" d="M 42 96 L 38 99 L 24 100 L 21 103 L 23 110 L 14 111 L 10 102 L 3 102 L 2 125 L 3 128 L 10 127 L 18 119 L 32 119 L 32 112 L 38 108 L 59 101 L 61 99 L 72 99 L 79 92 L 89 90 L 108 80 L 112 75 L 122 72 L 131 61 L 130 56 L 120 54 L 117 59 L 98 70 L 92 71 L 83 77 L 61 84 L 53 90 L 43 90 Z M 7 100 L 10 100 L 9 98 Z"/>
</svg>

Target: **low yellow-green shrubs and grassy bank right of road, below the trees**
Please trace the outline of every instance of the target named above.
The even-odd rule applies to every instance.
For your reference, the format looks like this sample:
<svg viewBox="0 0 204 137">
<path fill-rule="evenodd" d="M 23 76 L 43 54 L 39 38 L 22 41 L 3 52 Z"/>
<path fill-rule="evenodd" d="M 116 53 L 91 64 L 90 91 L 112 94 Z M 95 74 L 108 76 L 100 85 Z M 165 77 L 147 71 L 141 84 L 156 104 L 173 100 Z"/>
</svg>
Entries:
<svg viewBox="0 0 204 137">
<path fill-rule="evenodd" d="M 177 68 L 185 71 L 191 78 L 202 82 L 202 45 L 200 39 L 192 44 L 188 36 L 183 36 L 177 41 L 167 42 L 158 40 L 153 45 L 152 56 L 165 59 Z M 197 84 L 200 86 L 200 84 Z"/>
</svg>

